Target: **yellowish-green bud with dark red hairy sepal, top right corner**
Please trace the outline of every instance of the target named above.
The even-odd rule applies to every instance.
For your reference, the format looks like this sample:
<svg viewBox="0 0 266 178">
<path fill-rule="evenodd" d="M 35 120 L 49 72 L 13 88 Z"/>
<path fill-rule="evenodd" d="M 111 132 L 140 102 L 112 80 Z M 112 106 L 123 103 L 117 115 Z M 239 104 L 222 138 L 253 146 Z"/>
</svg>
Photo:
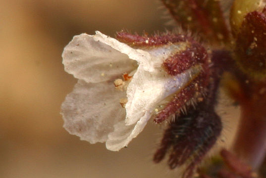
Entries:
<svg viewBox="0 0 266 178">
<path fill-rule="evenodd" d="M 266 12 L 265 0 L 235 0 L 231 27 L 236 38 L 235 60 L 250 78 L 266 77 Z"/>
</svg>

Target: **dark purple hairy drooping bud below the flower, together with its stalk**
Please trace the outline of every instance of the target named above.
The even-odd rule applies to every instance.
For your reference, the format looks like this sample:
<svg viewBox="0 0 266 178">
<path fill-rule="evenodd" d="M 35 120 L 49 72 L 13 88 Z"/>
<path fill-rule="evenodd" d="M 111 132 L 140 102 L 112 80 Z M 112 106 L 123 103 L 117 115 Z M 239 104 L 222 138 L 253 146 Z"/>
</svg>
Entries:
<svg viewBox="0 0 266 178">
<path fill-rule="evenodd" d="M 154 161 L 160 162 L 169 150 L 170 169 L 186 165 L 182 178 L 191 178 L 204 156 L 213 147 L 219 137 L 222 124 L 215 113 L 217 89 L 222 70 L 217 64 L 228 59 L 222 51 L 213 51 L 213 64 L 210 68 L 212 80 L 206 89 L 206 97 L 196 107 L 189 106 L 188 111 L 175 116 L 164 132 L 160 148 L 154 155 Z M 204 81 L 201 81 L 204 83 Z"/>
</svg>

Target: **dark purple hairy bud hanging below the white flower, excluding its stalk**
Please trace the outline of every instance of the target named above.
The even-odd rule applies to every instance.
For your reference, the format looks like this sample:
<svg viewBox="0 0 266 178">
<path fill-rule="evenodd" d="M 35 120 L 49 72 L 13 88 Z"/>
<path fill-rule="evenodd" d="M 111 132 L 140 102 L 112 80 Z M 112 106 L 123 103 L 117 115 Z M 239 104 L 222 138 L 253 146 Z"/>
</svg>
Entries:
<svg viewBox="0 0 266 178">
<path fill-rule="evenodd" d="M 161 140 L 160 148 L 154 155 L 154 161 L 160 162 L 170 149 L 168 165 L 170 169 L 188 164 L 183 178 L 190 178 L 195 167 L 216 142 L 221 132 L 220 118 L 210 112 L 206 103 L 181 114 L 169 124 Z"/>
</svg>

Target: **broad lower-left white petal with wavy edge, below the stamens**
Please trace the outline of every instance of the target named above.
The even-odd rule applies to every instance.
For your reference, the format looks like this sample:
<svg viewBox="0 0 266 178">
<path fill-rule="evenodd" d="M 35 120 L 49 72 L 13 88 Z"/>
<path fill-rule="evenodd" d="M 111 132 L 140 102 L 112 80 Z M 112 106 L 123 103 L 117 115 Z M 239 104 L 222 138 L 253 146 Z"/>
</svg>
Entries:
<svg viewBox="0 0 266 178">
<path fill-rule="evenodd" d="M 114 89 L 113 83 L 86 83 L 79 80 L 61 106 L 64 128 L 90 143 L 104 142 L 113 126 L 125 118 L 119 98 L 125 92 Z"/>
</svg>

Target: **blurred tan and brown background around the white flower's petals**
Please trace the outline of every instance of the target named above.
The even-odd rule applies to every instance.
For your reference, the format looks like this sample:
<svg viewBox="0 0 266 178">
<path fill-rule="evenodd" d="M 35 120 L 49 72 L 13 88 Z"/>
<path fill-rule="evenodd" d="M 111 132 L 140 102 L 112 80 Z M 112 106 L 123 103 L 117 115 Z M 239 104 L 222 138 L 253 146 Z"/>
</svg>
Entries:
<svg viewBox="0 0 266 178">
<path fill-rule="evenodd" d="M 61 53 L 74 35 L 164 31 L 157 0 L 0 0 L 0 178 L 173 178 L 153 164 L 151 122 L 128 148 L 68 134 L 60 104 L 76 80 Z"/>
</svg>

